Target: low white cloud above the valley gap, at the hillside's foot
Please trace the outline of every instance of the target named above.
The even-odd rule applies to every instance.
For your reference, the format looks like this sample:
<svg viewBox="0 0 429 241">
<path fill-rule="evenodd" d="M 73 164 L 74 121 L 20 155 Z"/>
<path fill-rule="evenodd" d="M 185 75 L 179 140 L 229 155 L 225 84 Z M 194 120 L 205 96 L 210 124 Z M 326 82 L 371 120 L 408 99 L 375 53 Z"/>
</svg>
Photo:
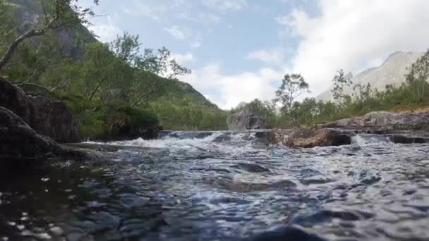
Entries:
<svg viewBox="0 0 429 241">
<path fill-rule="evenodd" d="M 204 68 L 193 70 L 191 75 L 181 80 L 190 83 L 200 92 L 210 97 L 222 109 L 231 109 L 241 101 L 250 102 L 255 98 L 272 99 L 275 85 L 282 73 L 261 68 L 255 72 L 243 72 L 236 75 L 224 75 L 219 64 L 208 64 Z"/>
</svg>

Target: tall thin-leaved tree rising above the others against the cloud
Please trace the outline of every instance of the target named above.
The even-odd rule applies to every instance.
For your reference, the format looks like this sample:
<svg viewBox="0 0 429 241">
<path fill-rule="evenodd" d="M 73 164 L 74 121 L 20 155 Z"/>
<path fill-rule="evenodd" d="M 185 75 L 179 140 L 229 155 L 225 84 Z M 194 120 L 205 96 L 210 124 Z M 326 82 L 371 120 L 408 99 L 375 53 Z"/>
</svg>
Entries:
<svg viewBox="0 0 429 241">
<path fill-rule="evenodd" d="M 276 91 L 276 99 L 274 99 L 274 102 L 277 103 L 280 101 L 283 105 L 283 108 L 291 109 L 292 104 L 296 98 L 301 96 L 301 94 L 310 92 L 308 87 L 308 83 L 301 75 L 284 75 L 282 85 Z"/>
</svg>

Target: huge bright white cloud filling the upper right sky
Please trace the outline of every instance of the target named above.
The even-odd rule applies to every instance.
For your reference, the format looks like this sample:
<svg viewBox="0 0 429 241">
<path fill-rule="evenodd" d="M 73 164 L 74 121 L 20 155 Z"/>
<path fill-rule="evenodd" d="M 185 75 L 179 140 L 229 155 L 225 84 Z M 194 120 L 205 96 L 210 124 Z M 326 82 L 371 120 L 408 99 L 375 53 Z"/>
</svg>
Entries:
<svg viewBox="0 0 429 241">
<path fill-rule="evenodd" d="M 327 89 L 339 68 L 356 73 L 394 51 L 429 47 L 426 0 L 320 0 L 318 6 L 313 17 L 294 10 L 277 18 L 301 39 L 288 70 L 302 73 L 314 94 Z"/>
</svg>

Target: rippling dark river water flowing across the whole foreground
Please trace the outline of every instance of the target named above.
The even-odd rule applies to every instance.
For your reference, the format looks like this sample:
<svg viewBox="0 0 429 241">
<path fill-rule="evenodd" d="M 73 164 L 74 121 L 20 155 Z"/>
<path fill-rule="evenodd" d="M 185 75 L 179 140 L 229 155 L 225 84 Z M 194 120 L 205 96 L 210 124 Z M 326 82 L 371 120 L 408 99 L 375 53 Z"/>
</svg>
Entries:
<svg viewBox="0 0 429 241">
<path fill-rule="evenodd" d="M 429 240 L 429 144 L 265 134 L 164 132 L 3 168 L 0 240 Z"/>
</svg>

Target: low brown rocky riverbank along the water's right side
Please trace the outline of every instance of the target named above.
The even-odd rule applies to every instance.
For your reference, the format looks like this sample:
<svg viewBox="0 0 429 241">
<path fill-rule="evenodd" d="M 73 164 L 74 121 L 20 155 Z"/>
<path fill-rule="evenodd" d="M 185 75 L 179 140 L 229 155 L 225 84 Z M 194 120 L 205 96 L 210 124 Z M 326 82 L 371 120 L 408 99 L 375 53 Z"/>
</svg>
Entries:
<svg viewBox="0 0 429 241">
<path fill-rule="evenodd" d="M 274 129 L 270 143 L 288 147 L 338 146 L 350 144 L 351 137 L 359 133 L 384 135 L 394 143 L 425 143 L 429 142 L 428 130 L 429 112 L 377 111 L 317 128 Z"/>
</svg>

